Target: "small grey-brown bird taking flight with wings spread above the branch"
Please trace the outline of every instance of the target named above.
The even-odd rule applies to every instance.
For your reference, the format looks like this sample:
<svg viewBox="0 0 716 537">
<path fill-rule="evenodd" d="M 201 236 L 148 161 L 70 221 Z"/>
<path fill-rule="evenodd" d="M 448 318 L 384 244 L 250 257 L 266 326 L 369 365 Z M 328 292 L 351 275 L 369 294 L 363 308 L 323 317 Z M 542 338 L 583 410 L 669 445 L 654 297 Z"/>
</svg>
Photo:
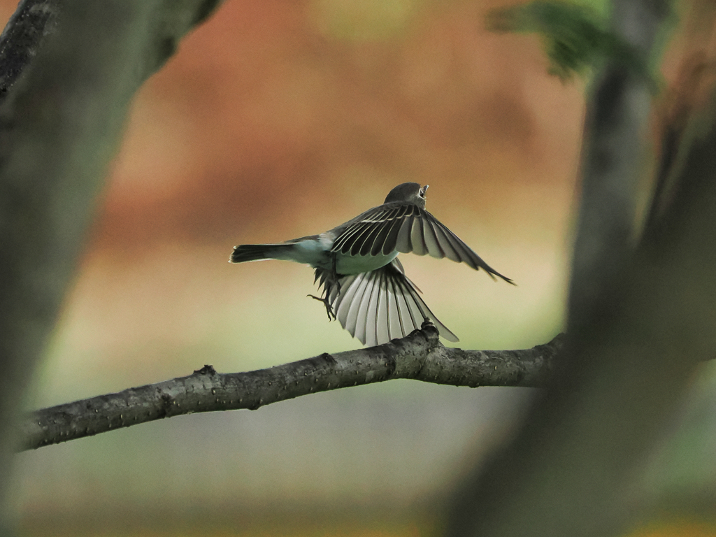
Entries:
<svg viewBox="0 0 716 537">
<path fill-rule="evenodd" d="M 399 253 L 429 254 L 466 263 L 514 282 L 483 261 L 435 216 L 425 211 L 428 185 L 402 183 L 382 205 L 368 209 L 325 233 L 274 244 L 241 244 L 230 263 L 282 259 L 311 266 L 319 282 L 329 321 L 338 319 L 359 341 L 373 347 L 405 337 L 430 320 L 440 337 L 458 337 L 430 311 L 415 284 L 405 276 Z"/>
</svg>

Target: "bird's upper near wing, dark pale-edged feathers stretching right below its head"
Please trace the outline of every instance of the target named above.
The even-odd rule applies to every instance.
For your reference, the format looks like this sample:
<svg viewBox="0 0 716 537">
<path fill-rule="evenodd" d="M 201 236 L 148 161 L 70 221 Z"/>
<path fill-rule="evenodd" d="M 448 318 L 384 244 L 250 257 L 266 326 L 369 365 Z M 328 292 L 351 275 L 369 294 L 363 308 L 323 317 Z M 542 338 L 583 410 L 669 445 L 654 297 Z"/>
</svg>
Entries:
<svg viewBox="0 0 716 537">
<path fill-rule="evenodd" d="M 492 279 L 499 276 L 435 216 L 412 203 L 385 203 L 369 209 L 345 224 L 333 243 L 332 251 L 351 256 L 389 255 L 393 251 L 417 253 L 442 259 L 447 257 L 458 263 L 467 263 L 475 270 L 483 269 Z"/>
</svg>

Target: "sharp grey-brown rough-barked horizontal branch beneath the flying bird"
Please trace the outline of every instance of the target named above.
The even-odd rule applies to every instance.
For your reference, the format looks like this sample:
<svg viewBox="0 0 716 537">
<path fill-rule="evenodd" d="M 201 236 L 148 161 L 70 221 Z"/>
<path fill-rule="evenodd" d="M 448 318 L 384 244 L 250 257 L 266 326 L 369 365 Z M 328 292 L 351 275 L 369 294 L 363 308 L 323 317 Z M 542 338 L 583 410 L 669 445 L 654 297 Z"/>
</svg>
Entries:
<svg viewBox="0 0 716 537">
<path fill-rule="evenodd" d="M 390 379 L 454 386 L 543 385 L 562 337 L 532 349 L 474 351 L 444 347 L 437 329 L 392 342 L 243 373 L 205 366 L 188 377 L 33 412 L 21 424 L 23 449 L 40 448 L 120 427 L 193 412 L 256 410 L 272 402 Z"/>
</svg>

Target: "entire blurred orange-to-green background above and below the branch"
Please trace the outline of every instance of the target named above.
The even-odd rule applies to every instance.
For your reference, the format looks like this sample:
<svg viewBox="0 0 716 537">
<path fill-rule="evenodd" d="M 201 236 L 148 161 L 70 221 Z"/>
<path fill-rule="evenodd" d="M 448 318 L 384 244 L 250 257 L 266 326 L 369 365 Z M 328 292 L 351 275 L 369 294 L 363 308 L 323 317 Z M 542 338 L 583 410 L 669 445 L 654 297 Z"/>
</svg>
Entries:
<svg viewBox="0 0 716 537">
<path fill-rule="evenodd" d="M 404 256 L 459 345 L 551 339 L 584 83 L 549 76 L 537 37 L 487 32 L 497 5 L 228 0 L 135 98 L 28 406 L 359 347 L 306 298 L 310 269 L 228 256 L 325 231 L 409 180 L 518 284 Z M 6 20 L 15 3 L 0 8 Z M 713 415 L 715 390 L 699 385 L 647 472 L 655 496 L 716 483 L 716 426 L 694 417 Z M 390 382 L 23 453 L 21 534 L 430 534 L 462 469 L 508 437 L 529 395 Z"/>
</svg>

